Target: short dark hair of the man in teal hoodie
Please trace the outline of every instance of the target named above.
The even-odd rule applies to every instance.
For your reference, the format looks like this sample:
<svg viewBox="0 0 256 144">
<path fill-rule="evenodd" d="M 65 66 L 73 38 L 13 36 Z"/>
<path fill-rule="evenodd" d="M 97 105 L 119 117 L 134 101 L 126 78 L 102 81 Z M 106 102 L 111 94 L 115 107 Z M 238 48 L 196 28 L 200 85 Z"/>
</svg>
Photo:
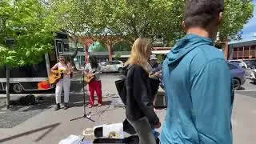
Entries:
<svg viewBox="0 0 256 144">
<path fill-rule="evenodd" d="M 185 26 L 206 28 L 223 10 L 224 0 L 186 0 Z"/>
</svg>

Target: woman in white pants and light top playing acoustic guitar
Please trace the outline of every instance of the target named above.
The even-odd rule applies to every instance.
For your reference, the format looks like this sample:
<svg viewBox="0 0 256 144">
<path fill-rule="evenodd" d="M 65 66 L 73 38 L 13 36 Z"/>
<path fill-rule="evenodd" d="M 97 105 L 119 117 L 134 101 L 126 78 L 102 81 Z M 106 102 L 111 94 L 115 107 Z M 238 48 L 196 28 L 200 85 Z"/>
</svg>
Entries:
<svg viewBox="0 0 256 144">
<path fill-rule="evenodd" d="M 59 55 L 59 62 L 56 63 L 52 68 L 51 72 L 56 73 L 56 70 L 64 71 L 64 76 L 56 84 L 55 97 L 56 97 L 56 107 L 55 110 L 59 110 L 61 103 L 62 89 L 64 89 L 64 110 L 68 109 L 68 102 L 70 98 L 70 75 L 73 73 L 72 66 L 70 62 L 67 62 L 63 55 Z"/>
</svg>

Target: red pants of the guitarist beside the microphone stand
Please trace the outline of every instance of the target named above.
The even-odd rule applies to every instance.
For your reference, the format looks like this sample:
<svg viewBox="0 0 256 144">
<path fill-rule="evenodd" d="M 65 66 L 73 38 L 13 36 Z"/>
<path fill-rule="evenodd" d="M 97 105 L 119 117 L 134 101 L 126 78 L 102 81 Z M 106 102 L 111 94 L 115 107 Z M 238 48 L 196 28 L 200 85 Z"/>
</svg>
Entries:
<svg viewBox="0 0 256 144">
<path fill-rule="evenodd" d="M 92 81 L 89 82 L 89 91 L 90 91 L 90 106 L 94 106 L 94 91 L 98 96 L 98 104 L 102 104 L 102 82 L 101 81 Z"/>
</svg>

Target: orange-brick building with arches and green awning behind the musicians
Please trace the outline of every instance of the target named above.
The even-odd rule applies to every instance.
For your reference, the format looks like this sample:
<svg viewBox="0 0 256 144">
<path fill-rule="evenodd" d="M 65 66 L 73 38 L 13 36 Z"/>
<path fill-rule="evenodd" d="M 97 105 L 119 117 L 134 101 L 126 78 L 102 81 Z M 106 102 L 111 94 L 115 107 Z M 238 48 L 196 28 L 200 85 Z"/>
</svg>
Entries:
<svg viewBox="0 0 256 144">
<path fill-rule="evenodd" d="M 82 69 L 88 62 L 89 55 L 95 55 L 98 62 L 120 60 L 125 62 L 130 57 L 132 44 L 117 36 L 80 36 L 78 43 L 78 54 L 74 58 L 77 69 Z M 159 40 L 157 41 L 159 45 Z M 64 54 L 74 53 L 74 42 L 70 39 L 70 49 Z M 166 54 L 170 47 L 154 47 L 153 54 Z"/>
</svg>

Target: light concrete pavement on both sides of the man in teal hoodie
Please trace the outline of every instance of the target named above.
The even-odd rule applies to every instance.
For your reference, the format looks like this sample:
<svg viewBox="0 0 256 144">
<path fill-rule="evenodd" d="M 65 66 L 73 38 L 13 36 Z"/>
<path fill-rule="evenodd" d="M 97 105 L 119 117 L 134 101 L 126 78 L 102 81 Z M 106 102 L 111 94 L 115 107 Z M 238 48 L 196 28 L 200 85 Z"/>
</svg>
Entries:
<svg viewBox="0 0 256 144">
<path fill-rule="evenodd" d="M 105 98 L 104 100 L 107 101 L 108 99 Z M 238 94 L 235 96 L 232 120 L 235 144 L 244 142 L 246 144 L 254 144 L 256 142 L 256 134 L 252 131 L 256 130 L 256 122 L 254 122 L 256 119 L 255 103 L 255 98 Z M 102 110 L 105 111 L 103 112 Z M 86 128 L 122 122 L 125 118 L 125 110 L 122 108 L 114 109 L 113 106 L 94 107 L 90 111 L 92 112 L 91 115 L 93 115 L 92 118 L 96 122 L 90 122 L 86 119 L 70 122 L 71 118 L 82 115 L 81 106 L 74 106 L 68 110 L 45 110 L 14 128 L 0 129 L 0 143 L 58 143 L 70 134 L 81 135 Z M 165 110 L 158 111 L 158 116 L 162 121 L 165 114 Z M 85 139 L 92 140 L 93 137 L 86 137 Z"/>
</svg>

